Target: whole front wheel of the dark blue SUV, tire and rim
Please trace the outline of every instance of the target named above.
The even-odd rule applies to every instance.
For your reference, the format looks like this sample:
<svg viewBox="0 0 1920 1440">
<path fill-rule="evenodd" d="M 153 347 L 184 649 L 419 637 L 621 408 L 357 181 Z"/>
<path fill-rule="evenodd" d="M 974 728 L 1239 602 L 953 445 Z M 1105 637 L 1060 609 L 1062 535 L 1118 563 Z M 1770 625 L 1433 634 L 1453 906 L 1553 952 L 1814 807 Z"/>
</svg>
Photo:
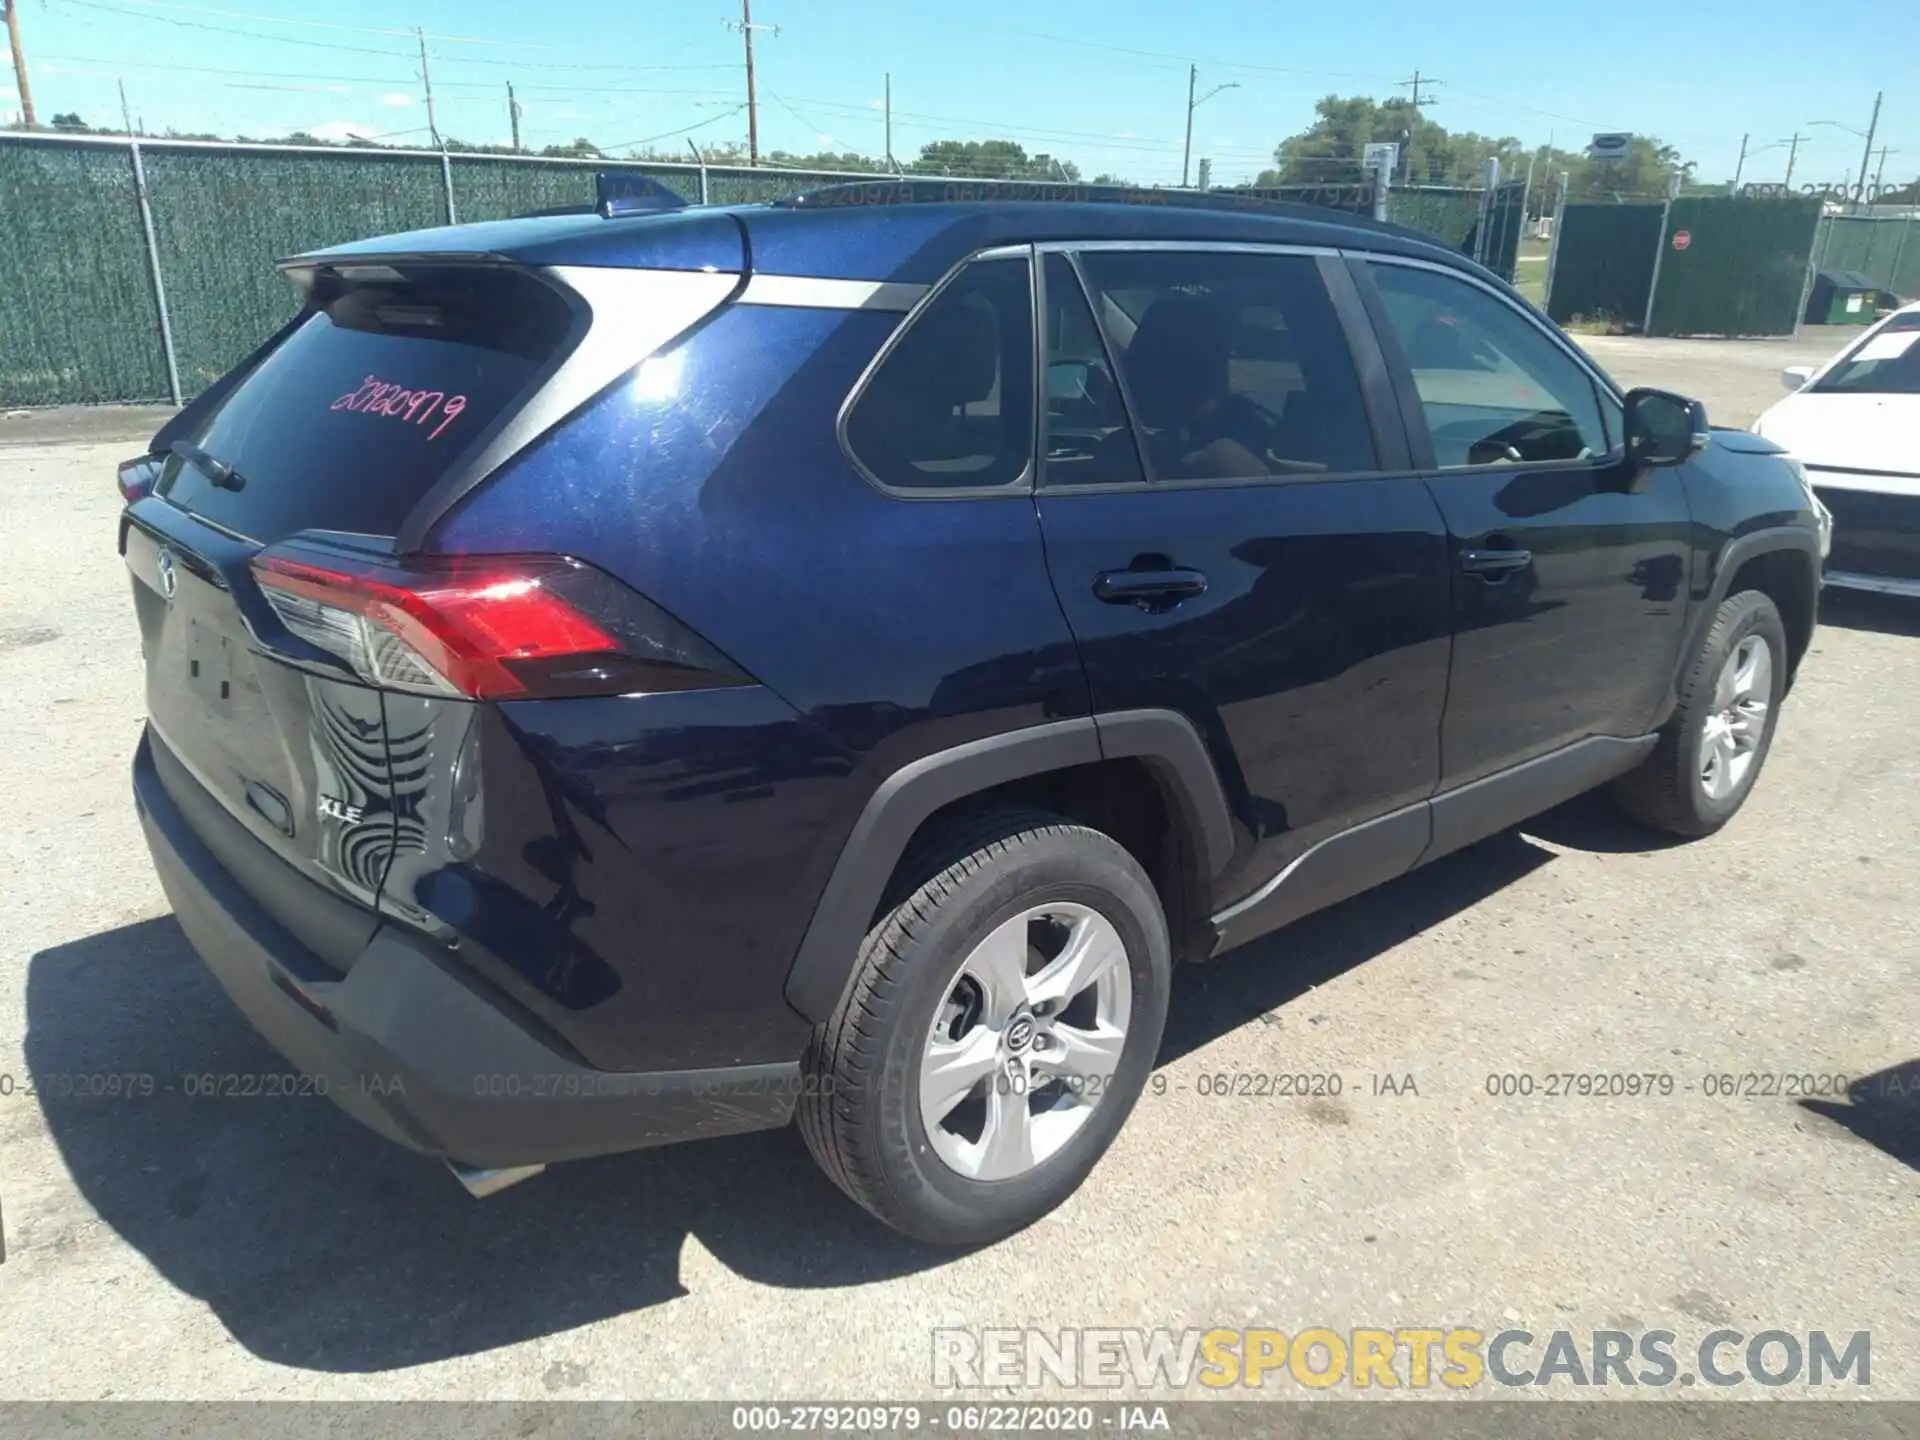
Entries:
<svg viewBox="0 0 1920 1440">
<path fill-rule="evenodd" d="M 1615 781 L 1636 820 L 1674 835 L 1711 835 L 1759 780 L 1786 695 L 1788 636 L 1772 599 L 1730 595 L 1680 682 L 1680 705 L 1640 768 Z"/>
</svg>

